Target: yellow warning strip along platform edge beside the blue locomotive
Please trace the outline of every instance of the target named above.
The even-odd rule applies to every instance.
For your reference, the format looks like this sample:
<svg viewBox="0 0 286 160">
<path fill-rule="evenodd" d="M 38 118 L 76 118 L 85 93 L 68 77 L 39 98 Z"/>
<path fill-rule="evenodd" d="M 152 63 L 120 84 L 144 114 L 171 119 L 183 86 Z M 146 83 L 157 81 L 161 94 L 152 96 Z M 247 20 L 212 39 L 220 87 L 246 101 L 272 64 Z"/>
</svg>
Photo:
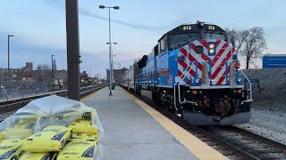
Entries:
<svg viewBox="0 0 286 160">
<path fill-rule="evenodd" d="M 160 114 L 156 109 L 151 108 L 142 100 L 128 92 L 128 95 L 134 100 L 141 108 L 143 108 L 150 116 L 152 116 L 159 124 L 161 124 L 168 132 L 172 134 L 182 145 L 189 149 L 198 159 L 228 159 L 214 148 L 209 147 L 206 143 L 199 140 L 197 137 L 187 132 L 178 124 L 173 123 L 169 118 Z"/>
</svg>

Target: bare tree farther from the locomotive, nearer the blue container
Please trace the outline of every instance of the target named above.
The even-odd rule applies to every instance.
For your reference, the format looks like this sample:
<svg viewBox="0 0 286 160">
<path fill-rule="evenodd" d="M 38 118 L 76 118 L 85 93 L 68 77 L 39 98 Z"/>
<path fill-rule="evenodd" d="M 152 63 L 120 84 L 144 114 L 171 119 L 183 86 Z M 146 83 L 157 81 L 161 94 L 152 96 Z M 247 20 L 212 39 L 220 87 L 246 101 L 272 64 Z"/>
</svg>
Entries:
<svg viewBox="0 0 286 160">
<path fill-rule="evenodd" d="M 264 29 L 258 27 L 248 29 L 248 36 L 241 51 L 242 55 L 246 57 L 246 69 L 249 68 L 250 61 L 260 57 L 265 49 L 266 42 Z"/>
</svg>

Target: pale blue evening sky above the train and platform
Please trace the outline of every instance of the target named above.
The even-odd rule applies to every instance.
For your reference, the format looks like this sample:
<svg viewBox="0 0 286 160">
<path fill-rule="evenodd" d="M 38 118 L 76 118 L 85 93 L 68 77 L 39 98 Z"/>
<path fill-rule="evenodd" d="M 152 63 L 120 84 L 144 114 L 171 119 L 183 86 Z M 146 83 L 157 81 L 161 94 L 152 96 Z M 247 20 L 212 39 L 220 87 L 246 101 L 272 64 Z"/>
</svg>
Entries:
<svg viewBox="0 0 286 160">
<path fill-rule="evenodd" d="M 283 0 L 79 0 L 80 70 L 105 76 L 108 68 L 108 11 L 111 11 L 114 68 L 129 67 L 147 54 L 165 32 L 197 20 L 222 28 L 265 29 L 266 52 L 286 53 L 286 1 Z M 0 0 L 0 68 L 7 67 L 7 35 L 11 39 L 11 67 L 26 61 L 66 67 L 64 0 Z"/>
</svg>

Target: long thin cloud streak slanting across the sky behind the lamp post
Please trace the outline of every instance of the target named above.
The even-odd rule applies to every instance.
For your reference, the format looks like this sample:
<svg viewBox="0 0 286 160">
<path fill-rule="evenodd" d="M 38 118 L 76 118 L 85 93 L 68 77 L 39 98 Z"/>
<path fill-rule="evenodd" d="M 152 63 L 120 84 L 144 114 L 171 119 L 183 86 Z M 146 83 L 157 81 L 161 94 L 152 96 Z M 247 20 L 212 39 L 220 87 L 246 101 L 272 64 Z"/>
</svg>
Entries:
<svg viewBox="0 0 286 160">
<path fill-rule="evenodd" d="M 50 4 L 53 7 L 56 8 L 63 8 L 64 7 L 64 1 L 63 0 L 44 0 L 47 4 Z M 103 17 L 103 16 L 99 16 L 94 12 L 89 12 L 88 10 L 84 9 L 84 8 L 79 8 L 79 13 L 82 16 L 86 16 L 89 18 L 93 18 L 93 19 L 97 19 L 97 20 L 108 20 L 108 18 Z M 149 30 L 149 31 L 158 31 L 158 30 L 162 30 L 163 28 L 154 28 L 154 27 L 149 27 L 146 26 L 144 24 L 139 24 L 139 23 L 130 23 L 130 22 L 126 22 L 126 21 L 122 21 L 122 20 L 114 20 L 111 19 L 111 21 L 113 21 L 114 23 L 118 23 L 122 26 L 126 26 L 129 28 L 138 28 L 138 29 L 145 29 L 145 30 Z"/>
</svg>

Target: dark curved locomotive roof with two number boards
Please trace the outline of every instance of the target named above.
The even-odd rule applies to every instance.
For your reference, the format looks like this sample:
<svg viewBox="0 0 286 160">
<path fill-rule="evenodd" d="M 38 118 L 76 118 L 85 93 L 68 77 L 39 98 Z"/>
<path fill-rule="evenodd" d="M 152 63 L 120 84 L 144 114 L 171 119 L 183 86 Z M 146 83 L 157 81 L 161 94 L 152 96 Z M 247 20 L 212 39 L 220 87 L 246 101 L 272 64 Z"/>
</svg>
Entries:
<svg viewBox="0 0 286 160">
<path fill-rule="evenodd" d="M 207 23 L 198 21 L 195 24 L 182 24 L 178 26 L 177 28 L 173 28 L 172 30 L 170 30 L 169 32 L 161 36 L 158 42 L 164 36 L 185 35 L 185 34 L 194 34 L 194 33 L 201 33 L 201 32 L 225 33 L 223 28 L 220 28 L 217 25 L 207 24 Z"/>
</svg>

